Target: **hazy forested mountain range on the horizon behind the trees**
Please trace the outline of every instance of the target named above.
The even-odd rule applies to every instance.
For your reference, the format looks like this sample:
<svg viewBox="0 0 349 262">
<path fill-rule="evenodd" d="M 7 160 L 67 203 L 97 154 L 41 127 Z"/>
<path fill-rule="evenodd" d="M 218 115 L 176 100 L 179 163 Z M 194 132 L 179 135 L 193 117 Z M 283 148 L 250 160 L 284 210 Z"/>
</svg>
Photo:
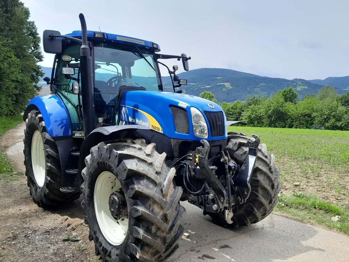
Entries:
<svg viewBox="0 0 349 262">
<path fill-rule="evenodd" d="M 51 68 L 42 67 L 44 77 L 51 77 Z M 304 80 L 304 79 L 284 79 L 261 77 L 259 75 L 239 72 L 223 68 L 200 68 L 178 74 L 179 78 L 187 79 L 185 89 L 186 94 L 199 96 L 203 91 L 212 92 L 219 102 L 233 102 L 245 100 L 247 95 L 267 96 L 276 93 L 280 89 L 292 86 L 303 98 L 310 93 L 318 93 L 323 86 L 334 86 L 338 94 L 348 92 L 349 76 L 329 77 L 324 80 Z M 163 77 L 165 91 L 172 91 L 172 84 L 169 77 Z M 46 83 L 40 79 L 39 84 Z"/>
</svg>

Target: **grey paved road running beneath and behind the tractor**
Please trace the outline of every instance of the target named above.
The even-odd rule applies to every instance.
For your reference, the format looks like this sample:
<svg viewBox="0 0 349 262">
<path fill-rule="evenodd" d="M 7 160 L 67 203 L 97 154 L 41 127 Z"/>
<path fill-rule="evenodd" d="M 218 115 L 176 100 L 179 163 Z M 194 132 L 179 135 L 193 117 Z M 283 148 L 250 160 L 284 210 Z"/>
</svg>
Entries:
<svg viewBox="0 0 349 262">
<path fill-rule="evenodd" d="M 1 142 L 21 172 L 23 129 L 23 124 L 17 126 L 9 131 L 11 139 Z M 171 261 L 349 261 L 346 235 L 277 214 L 250 227 L 231 230 L 213 224 L 188 202 L 181 204 L 187 211 L 186 233 Z"/>
</svg>

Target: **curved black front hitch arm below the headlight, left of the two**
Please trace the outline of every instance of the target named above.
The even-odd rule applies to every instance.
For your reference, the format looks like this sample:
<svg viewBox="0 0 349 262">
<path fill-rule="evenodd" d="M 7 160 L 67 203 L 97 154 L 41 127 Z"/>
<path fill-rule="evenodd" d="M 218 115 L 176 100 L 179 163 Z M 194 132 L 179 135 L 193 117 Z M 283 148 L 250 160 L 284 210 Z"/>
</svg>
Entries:
<svg viewBox="0 0 349 262">
<path fill-rule="evenodd" d="M 199 156 L 198 165 L 202 174 L 205 176 L 206 181 L 217 196 L 216 202 L 219 204 L 218 209 L 222 210 L 227 201 L 227 192 L 224 190 L 222 183 L 217 179 L 208 165 L 207 158 L 210 150 L 209 143 L 204 139 L 202 139 L 200 142 L 203 146 L 196 147 L 196 153 Z"/>
</svg>

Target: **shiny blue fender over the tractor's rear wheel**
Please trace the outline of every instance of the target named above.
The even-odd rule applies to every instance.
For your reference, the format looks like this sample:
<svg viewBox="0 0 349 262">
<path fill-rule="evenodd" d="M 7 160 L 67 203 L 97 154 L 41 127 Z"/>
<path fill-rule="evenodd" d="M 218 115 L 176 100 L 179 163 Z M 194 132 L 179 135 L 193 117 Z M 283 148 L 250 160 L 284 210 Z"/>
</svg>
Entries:
<svg viewBox="0 0 349 262">
<path fill-rule="evenodd" d="M 51 137 L 71 136 L 70 120 L 66 108 L 57 95 L 37 96 L 27 105 L 35 105 L 44 118 L 47 133 Z"/>
</svg>

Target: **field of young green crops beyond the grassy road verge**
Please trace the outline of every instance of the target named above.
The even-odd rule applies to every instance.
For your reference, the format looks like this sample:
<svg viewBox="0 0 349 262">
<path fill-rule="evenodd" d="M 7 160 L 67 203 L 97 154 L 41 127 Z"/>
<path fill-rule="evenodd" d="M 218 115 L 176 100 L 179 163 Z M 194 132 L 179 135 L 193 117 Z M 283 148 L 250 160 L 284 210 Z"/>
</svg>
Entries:
<svg viewBox="0 0 349 262">
<path fill-rule="evenodd" d="M 276 157 L 283 192 L 304 191 L 349 204 L 349 131 L 242 126 L 229 131 L 260 137 Z"/>
</svg>

